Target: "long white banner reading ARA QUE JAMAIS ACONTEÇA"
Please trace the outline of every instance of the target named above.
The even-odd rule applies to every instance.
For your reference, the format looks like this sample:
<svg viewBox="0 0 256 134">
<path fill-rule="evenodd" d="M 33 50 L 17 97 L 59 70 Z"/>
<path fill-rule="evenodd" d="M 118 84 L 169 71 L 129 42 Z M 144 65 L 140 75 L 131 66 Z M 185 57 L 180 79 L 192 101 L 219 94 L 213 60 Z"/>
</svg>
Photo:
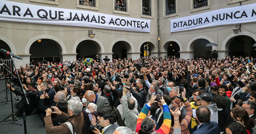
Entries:
<svg viewBox="0 0 256 134">
<path fill-rule="evenodd" d="M 70 0 L 73 1 L 74 0 Z M 0 20 L 150 32 L 150 20 L 0 0 Z"/>
</svg>

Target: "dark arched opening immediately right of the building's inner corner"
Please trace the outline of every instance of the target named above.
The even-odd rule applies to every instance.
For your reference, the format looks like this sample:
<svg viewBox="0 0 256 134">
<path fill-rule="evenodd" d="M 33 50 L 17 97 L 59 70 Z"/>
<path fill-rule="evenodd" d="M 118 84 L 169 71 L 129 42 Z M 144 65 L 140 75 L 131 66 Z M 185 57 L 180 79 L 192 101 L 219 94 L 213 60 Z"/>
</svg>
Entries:
<svg viewBox="0 0 256 134">
<path fill-rule="evenodd" d="M 168 57 L 180 57 L 180 46 L 177 42 L 167 42 L 164 44 L 164 47 L 167 49 L 167 56 Z"/>
</svg>

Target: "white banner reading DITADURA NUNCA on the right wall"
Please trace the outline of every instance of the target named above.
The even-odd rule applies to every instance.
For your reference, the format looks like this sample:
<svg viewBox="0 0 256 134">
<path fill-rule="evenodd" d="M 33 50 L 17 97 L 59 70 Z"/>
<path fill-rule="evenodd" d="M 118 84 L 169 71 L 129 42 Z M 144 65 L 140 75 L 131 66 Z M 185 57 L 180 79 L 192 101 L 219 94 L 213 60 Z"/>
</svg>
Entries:
<svg viewBox="0 0 256 134">
<path fill-rule="evenodd" d="M 256 21 L 256 4 L 171 19 L 171 32 Z"/>
</svg>

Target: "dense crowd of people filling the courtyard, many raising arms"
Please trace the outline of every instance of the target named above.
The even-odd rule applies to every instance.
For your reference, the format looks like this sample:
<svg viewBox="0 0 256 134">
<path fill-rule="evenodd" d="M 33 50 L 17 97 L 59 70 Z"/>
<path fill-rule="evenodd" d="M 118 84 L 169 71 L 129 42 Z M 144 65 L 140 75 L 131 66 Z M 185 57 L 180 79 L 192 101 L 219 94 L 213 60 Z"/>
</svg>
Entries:
<svg viewBox="0 0 256 134">
<path fill-rule="evenodd" d="M 11 90 L 26 90 L 25 111 L 47 134 L 256 134 L 255 65 L 242 56 L 32 61 Z"/>
</svg>

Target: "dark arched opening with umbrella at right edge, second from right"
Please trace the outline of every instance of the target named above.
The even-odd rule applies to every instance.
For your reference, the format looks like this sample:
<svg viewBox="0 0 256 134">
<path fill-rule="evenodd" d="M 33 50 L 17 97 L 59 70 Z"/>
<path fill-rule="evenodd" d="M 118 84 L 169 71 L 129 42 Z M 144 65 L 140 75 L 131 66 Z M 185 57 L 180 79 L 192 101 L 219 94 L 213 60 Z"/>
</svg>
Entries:
<svg viewBox="0 0 256 134">
<path fill-rule="evenodd" d="M 207 43 L 210 43 L 206 39 L 196 39 L 190 45 L 192 51 L 194 51 L 194 58 L 209 58 L 211 57 L 212 46 L 206 46 Z"/>
</svg>

